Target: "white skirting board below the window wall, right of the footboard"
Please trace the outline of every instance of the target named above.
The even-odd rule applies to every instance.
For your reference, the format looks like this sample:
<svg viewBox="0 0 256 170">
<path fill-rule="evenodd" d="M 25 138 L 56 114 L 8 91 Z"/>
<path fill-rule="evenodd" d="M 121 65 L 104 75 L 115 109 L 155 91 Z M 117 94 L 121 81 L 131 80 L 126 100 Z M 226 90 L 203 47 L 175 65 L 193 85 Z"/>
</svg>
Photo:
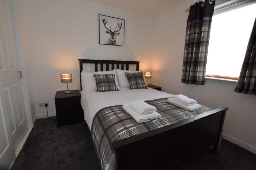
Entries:
<svg viewBox="0 0 256 170">
<path fill-rule="evenodd" d="M 239 139 L 237 139 L 237 138 L 235 138 L 233 136 L 230 136 L 230 135 L 228 135 L 228 134 L 226 134 L 224 132 L 222 133 L 222 138 L 226 139 L 226 140 L 228 140 L 228 141 L 230 141 L 230 142 L 232 142 L 232 143 L 234 143 L 236 145 L 239 145 L 239 147 L 244 148 L 247 151 L 250 151 L 250 152 L 256 154 L 256 147 L 254 147 L 253 145 L 245 143 L 245 142 L 243 142 L 243 141 L 241 141 L 241 140 L 239 140 Z"/>
</svg>

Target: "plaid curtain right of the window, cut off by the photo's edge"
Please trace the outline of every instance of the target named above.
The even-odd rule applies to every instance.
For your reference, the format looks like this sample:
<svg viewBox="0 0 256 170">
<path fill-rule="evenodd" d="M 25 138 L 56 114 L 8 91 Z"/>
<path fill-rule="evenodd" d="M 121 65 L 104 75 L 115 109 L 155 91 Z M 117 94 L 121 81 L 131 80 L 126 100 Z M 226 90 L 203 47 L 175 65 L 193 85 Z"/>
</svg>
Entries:
<svg viewBox="0 0 256 170">
<path fill-rule="evenodd" d="M 234 91 L 256 95 L 256 19 L 248 42 L 238 83 Z"/>
</svg>

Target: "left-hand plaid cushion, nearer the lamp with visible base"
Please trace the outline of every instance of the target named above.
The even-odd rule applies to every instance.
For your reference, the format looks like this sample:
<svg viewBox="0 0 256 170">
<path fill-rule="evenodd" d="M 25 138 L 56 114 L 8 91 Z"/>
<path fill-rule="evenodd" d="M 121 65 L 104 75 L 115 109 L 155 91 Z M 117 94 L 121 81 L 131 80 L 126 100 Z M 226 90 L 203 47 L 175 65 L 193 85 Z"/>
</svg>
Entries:
<svg viewBox="0 0 256 170">
<path fill-rule="evenodd" d="M 115 74 L 93 74 L 93 77 L 96 81 L 96 92 L 119 91 L 115 82 Z"/>
</svg>

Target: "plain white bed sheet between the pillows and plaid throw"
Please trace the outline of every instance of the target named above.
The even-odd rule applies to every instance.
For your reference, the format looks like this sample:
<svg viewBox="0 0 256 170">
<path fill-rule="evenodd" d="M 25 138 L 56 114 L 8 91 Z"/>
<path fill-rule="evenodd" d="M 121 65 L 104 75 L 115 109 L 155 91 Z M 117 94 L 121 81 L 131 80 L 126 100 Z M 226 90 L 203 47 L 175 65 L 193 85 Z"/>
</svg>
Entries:
<svg viewBox="0 0 256 170">
<path fill-rule="evenodd" d="M 148 89 L 134 89 L 121 88 L 119 91 L 95 92 L 82 91 L 81 105 L 84 112 L 84 119 L 91 130 L 91 125 L 96 113 L 108 106 L 122 105 L 124 103 L 136 100 L 153 100 L 159 98 L 169 98 L 173 94 L 158 91 L 152 88 Z"/>
</svg>

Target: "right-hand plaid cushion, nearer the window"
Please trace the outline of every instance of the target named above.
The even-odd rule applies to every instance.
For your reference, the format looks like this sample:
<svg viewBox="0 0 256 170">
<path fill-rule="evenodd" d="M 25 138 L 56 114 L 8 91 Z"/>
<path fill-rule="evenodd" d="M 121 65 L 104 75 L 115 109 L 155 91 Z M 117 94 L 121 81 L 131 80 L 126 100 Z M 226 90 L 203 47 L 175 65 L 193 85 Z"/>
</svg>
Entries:
<svg viewBox="0 0 256 170">
<path fill-rule="evenodd" d="M 130 89 L 147 88 L 143 78 L 143 72 L 125 72 L 125 76 L 128 78 Z"/>
</svg>

